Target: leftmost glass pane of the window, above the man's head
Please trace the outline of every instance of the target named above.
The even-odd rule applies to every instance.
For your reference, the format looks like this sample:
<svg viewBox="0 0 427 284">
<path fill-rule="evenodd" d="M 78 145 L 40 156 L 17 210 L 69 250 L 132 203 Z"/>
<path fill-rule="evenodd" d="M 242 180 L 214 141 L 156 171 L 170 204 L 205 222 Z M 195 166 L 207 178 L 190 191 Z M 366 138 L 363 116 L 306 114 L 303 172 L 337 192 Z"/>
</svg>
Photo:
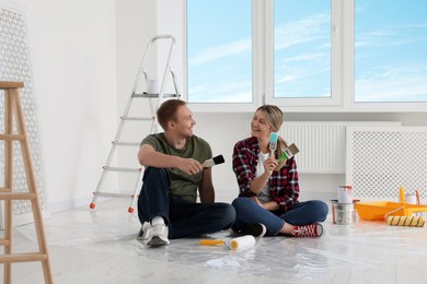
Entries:
<svg viewBox="0 0 427 284">
<path fill-rule="evenodd" d="M 187 0 L 189 103 L 252 103 L 251 0 Z"/>
</svg>

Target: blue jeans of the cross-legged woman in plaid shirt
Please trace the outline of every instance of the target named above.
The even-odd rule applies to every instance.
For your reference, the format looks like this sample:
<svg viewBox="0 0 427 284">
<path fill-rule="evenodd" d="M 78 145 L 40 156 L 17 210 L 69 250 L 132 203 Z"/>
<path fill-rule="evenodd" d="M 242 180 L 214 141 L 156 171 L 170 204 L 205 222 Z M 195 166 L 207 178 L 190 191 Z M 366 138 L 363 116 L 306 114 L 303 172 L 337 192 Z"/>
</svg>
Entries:
<svg viewBox="0 0 427 284">
<path fill-rule="evenodd" d="M 234 199 L 232 205 L 236 213 L 233 225 L 236 229 L 244 230 L 249 225 L 262 223 L 270 236 L 277 235 L 285 223 L 301 226 L 323 222 L 328 212 L 327 204 L 320 200 L 298 202 L 285 213 L 265 210 L 245 197 Z"/>
</svg>

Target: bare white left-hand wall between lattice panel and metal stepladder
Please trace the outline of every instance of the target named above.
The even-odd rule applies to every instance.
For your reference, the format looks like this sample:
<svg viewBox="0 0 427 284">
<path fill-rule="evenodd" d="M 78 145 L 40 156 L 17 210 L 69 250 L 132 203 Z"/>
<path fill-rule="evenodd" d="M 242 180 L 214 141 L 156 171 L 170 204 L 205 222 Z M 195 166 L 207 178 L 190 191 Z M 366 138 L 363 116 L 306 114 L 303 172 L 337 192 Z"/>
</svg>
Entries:
<svg viewBox="0 0 427 284">
<path fill-rule="evenodd" d="M 19 0 L 26 11 L 50 211 L 88 204 L 116 130 L 114 0 Z"/>
</svg>

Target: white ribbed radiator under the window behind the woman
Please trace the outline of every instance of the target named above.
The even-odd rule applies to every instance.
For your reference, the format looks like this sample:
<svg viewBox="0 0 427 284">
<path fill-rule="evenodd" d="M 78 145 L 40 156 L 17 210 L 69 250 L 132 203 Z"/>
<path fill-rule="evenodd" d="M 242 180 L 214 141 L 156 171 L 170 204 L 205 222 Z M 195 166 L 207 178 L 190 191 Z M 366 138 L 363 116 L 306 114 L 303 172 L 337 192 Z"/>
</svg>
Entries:
<svg viewBox="0 0 427 284">
<path fill-rule="evenodd" d="M 399 121 L 285 121 L 280 135 L 295 143 L 298 171 L 345 174 L 346 128 L 348 126 L 400 126 Z"/>
</svg>

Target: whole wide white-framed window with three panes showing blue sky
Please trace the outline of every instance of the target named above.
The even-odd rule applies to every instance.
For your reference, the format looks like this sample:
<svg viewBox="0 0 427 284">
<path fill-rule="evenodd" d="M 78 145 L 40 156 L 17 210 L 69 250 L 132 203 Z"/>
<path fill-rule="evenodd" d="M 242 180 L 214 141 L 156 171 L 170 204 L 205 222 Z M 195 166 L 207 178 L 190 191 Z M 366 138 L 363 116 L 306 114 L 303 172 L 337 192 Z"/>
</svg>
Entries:
<svg viewBox="0 0 427 284">
<path fill-rule="evenodd" d="M 426 10 L 424 0 L 187 0 L 188 102 L 426 111 Z"/>
</svg>

